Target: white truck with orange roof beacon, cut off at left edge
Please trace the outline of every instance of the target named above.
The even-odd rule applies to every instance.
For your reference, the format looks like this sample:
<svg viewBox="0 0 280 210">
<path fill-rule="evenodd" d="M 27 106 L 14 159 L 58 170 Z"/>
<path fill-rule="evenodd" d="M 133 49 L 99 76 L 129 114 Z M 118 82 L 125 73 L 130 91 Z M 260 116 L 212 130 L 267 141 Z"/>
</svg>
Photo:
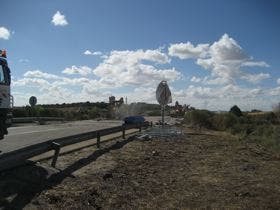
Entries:
<svg viewBox="0 0 280 210">
<path fill-rule="evenodd" d="M 0 50 L 0 140 L 8 134 L 7 128 L 11 126 L 12 107 L 11 73 L 7 63 L 6 51 Z"/>
</svg>

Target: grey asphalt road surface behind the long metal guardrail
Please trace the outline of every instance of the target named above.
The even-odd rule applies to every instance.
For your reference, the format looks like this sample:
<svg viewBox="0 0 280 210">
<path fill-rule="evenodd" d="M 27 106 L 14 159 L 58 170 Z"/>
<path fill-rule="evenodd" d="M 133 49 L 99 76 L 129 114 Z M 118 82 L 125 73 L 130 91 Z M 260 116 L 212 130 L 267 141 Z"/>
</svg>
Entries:
<svg viewBox="0 0 280 210">
<path fill-rule="evenodd" d="M 161 117 L 146 117 L 147 121 L 156 122 Z M 166 117 L 166 122 L 172 123 L 173 118 Z M 50 139 L 71 136 L 104 128 L 122 125 L 120 120 L 83 120 L 74 122 L 52 122 L 48 125 L 25 124 L 9 128 L 9 134 L 0 140 L 0 154 L 17 150 L 26 146 L 41 143 Z"/>
</svg>

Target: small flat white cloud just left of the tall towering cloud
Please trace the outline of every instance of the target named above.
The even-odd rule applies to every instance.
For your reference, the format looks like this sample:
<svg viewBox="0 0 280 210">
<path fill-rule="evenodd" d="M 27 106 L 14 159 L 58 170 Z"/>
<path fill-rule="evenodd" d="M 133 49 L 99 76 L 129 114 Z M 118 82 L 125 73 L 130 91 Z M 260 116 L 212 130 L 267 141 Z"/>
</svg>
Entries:
<svg viewBox="0 0 280 210">
<path fill-rule="evenodd" d="M 180 59 L 200 58 L 207 55 L 209 44 L 198 44 L 196 47 L 192 43 L 171 44 L 168 48 L 170 56 L 176 56 Z"/>
</svg>

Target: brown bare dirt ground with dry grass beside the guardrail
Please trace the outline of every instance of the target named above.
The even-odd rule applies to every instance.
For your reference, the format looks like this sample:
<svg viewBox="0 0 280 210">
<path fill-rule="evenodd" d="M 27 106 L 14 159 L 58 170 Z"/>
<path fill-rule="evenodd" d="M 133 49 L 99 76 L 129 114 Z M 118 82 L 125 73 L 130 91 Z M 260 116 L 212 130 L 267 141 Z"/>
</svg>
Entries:
<svg viewBox="0 0 280 210">
<path fill-rule="evenodd" d="M 114 140 L 0 174 L 0 209 L 280 209 L 280 155 L 183 128 Z"/>
</svg>

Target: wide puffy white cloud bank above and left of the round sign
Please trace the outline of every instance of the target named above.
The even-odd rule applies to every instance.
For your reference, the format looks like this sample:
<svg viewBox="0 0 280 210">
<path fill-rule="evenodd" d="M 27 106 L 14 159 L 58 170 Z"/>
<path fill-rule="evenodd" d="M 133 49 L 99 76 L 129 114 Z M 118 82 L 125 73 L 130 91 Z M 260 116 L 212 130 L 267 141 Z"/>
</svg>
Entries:
<svg viewBox="0 0 280 210">
<path fill-rule="evenodd" d="M 148 61 L 148 64 L 144 63 Z M 112 51 L 104 58 L 94 70 L 87 66 L 71 66 L 65 68 L 62 73 L 68 75 L 81 75 L 83 77 L 69 78 L 49 74 L 40 70 L 27 71 L 23 79 L 16 80 L 15 86 L 30 86 L 35 83 L 48 82 L 51 86 L 81 87 L 82 93 L 106 92 L 114 88 L 130 87 L 154 87 L 161 80 L 169 82 L 181 78 L 181 73 L 174 68 L 157 68 L 154 65 L 167 64 L 169 59 L 166 54 L 158 50 L 136 51 Z M 93 73 L 93 74 L 92 74 Z M 87 76 L 87 78 L 85 78 Z M 97 76 L 97 79 L 89 77 Z M 28 83 L 30 82 L 30 84 Z M 42 86 L 46 87 L 47 84 Z"/>
</svg>

